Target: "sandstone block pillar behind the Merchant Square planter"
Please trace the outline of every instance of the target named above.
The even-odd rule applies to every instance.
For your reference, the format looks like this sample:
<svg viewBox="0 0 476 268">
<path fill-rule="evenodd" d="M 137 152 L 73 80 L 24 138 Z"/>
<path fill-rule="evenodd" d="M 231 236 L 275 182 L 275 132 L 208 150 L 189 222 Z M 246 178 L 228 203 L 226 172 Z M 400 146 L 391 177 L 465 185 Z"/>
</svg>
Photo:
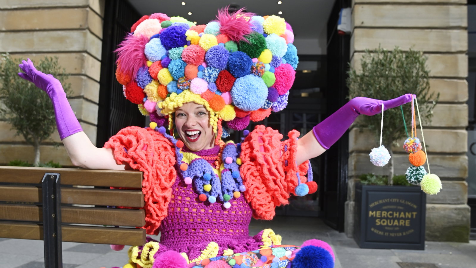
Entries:
<svg viewBox="0 0 476 268">
<path fill-rule="evenodd" d="M 409 5 L 411 3 L 411 5 Z M 357 70 L 366 49 L 421 50 L 427 56 L 431 91 L 439 92 L 433 122 L 424 125 L 431 173 L 443 182 L 442 191 L 427 196 L 426 240 L 469 240 L 467 202 L 467 12 L 466 0 L 354 0 L 351 64 Z M 418 130 L 419 131 L 419 130 Z M 420 137 L 421 139 L 421 137 Z M 346 234 L 353 232 L 354 184 L 358 175 L 386 175 L 373 166 L 368 153 L 377 145 L 368 132 L 352 129 L 349 135 L 349 183 Z M 395 174 L 405 174 L 408 154 L 393 148 Z"/>
</svg>

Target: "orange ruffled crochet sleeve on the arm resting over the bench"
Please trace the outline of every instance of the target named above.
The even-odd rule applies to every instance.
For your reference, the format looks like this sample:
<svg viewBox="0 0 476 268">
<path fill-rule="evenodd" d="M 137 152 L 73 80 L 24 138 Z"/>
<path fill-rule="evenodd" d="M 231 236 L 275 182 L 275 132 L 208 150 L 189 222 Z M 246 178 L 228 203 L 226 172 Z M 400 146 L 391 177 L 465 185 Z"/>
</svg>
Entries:
<svg viewBox="0 0 476 268">
<path fill-rule="evenodd" d="M 117 164 L 127 164 L 143 172 L 147 234 L 159 234 L 161 221 L 167 216 L 172 185 L 177 178 L 173 144 L 150 128 L 130 126 L 121 129 L 104 144 L 111 148 Z"/>
</svg>

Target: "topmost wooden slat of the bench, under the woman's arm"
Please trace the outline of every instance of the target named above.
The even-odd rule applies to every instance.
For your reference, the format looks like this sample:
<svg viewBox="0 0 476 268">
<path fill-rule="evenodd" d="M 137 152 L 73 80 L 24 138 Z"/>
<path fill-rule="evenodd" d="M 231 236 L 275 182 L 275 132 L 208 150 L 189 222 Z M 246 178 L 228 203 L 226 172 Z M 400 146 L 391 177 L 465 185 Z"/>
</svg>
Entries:
<svg viewBox="0 0 476 268">
<path fill-rule="evenodd" d="M 0 182 L 40 184 L 45 173 L 59 173 L 62 185 L 142 187 L 142 172 L 139 171 L 25 166 L 0 166 Z"/>
</svg>

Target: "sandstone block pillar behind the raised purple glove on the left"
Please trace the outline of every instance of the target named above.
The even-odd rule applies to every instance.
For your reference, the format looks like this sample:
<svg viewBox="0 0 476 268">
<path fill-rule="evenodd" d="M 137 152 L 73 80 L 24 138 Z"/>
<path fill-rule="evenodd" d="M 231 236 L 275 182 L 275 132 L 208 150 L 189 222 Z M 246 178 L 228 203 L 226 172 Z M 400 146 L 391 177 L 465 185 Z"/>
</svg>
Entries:
<svg viewBox="0 0 476 268">
<path fill-rule="evenodd" d="M 104 0 L 0 1 L 0 52 L 38 61 L 59 59 L 70 74 L 69 98 L 84 132 L 96 144 Z M 20 69 L 19 69 L 20 71 Z M 0 121 L 0 165 L 33 162 L 33 147 Z M 61 144 L 58 133 L 51 136 Z M 62 145 L 62 144 L 61 144 Z M 63 146 L 41 146 L 40 162 L 71 165 Z"/>
</svg>

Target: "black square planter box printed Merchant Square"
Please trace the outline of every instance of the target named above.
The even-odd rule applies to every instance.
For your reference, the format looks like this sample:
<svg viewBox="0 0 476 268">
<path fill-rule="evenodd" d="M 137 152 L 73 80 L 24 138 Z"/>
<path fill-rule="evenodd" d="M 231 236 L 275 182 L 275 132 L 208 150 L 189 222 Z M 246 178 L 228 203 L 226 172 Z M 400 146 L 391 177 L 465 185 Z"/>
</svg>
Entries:
<svg viewBox="0 0 476 268">
<path fill-rule="evenodd" d="M 425 249 L 425 213 L 418 186 L 357 183 L 354 239 L 362 248 Z"/>
</svg>

